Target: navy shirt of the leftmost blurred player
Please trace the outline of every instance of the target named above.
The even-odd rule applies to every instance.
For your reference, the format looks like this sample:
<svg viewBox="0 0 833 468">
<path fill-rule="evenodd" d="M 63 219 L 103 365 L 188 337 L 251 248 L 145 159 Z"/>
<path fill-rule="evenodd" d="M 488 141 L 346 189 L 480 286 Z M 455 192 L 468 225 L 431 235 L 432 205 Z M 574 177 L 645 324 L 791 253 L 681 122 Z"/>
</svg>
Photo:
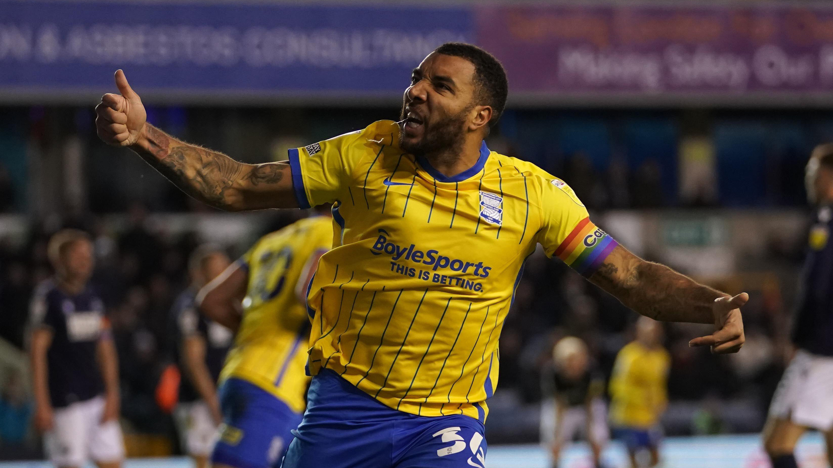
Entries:
<svg viewBox="0 0 833 468">
<path fill-rule="evenodd" d="M 52 330 L 47 375 L 52 406 L 72 405 L 104 391 L 96 358 L 98 340 L 109 332 L 104 304 L 91 286 L 77 295 L 44 281 L 32 297 L 32 325 Z"/>
</svg>

